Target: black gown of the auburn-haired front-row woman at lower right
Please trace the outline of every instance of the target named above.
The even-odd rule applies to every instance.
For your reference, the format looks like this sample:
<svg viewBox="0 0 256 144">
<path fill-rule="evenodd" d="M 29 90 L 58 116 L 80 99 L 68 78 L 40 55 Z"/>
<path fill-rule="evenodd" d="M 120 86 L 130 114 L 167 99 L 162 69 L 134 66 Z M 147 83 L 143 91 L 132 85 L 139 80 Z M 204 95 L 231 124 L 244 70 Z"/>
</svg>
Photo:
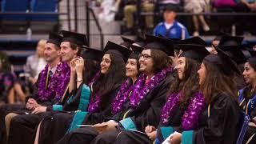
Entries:
<svg viewBox="0 0 256 144">
<path fill-rule="evenodd" d="M 210 114 L 208 109 L 209 106 L 206 106 L 202 110 L 198 120 L 198 130 L 194 130 L 191 137 L 192 143 L 235 143 L 239 134 L 238 125 L 241 114 L 238 102 L 226 94 L 218 94 L 210 103 Z"/>
</svg>

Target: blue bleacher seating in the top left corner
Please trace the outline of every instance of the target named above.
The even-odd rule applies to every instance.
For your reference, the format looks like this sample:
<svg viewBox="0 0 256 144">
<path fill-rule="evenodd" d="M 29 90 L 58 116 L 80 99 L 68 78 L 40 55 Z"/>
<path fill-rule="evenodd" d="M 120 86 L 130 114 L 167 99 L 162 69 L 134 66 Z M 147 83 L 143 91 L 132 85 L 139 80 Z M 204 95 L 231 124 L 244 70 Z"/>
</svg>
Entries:
<svg viewBox="0 0 256 144">
<path fill-rule="evenodd" d="M 42 34 L 58 28 L 58 0 L 0 0 L 2 34 Z"/>
</svg>

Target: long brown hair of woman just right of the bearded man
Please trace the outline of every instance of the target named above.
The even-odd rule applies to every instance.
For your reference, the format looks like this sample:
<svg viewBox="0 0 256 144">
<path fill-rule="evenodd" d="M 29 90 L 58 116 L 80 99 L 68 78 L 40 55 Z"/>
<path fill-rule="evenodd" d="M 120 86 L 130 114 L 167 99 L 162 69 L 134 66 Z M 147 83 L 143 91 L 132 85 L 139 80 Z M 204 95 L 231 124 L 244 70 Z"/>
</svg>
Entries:
<svg viewBox="0 0 256 144">
<path fill-rule="evenodd" d="M 191 58 L 185 58 L 185 67 L 182 80 L 175 77 L 170 86 L 169 94 L 178 93 L 182 90 L 182 97 L 179 99 L 181 108 L 187 106 L 190 98 L 198 91 L 198 69 L 201 63 Z"/>
</svg>

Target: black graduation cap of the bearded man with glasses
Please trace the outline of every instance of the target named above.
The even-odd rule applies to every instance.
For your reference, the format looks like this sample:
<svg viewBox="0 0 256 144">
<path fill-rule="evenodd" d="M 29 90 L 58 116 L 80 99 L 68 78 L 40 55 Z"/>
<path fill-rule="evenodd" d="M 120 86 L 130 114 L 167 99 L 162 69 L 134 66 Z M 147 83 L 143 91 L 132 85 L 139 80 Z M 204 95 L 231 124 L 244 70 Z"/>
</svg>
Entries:
<svg viewBox="0 0 256 144">
<path fill-rule="evenodd" d="M 174 56 L 174 42 L 168 38 L 161 38 L 146 34 L 146 46 L 144 49 L 162 50 L 169 56 Z"/>
</svg>

